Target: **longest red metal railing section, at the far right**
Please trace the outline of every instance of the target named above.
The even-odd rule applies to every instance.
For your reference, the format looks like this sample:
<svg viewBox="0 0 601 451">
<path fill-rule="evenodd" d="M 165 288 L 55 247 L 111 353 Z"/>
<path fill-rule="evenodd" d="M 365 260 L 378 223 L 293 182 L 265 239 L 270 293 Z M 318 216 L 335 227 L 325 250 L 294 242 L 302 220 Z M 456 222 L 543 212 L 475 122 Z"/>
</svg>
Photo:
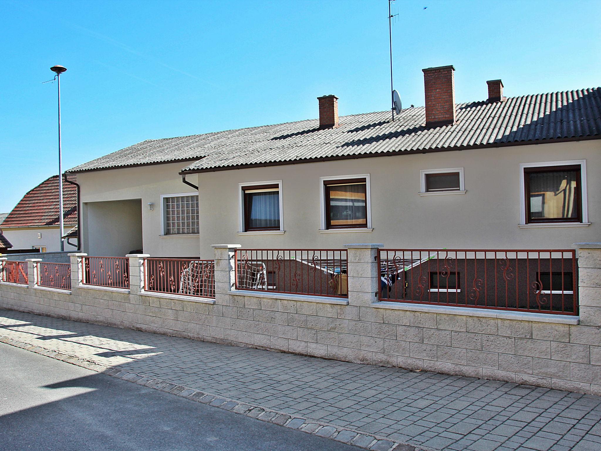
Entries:
<svg viewBox="0 0 601 451">
<path fill-rule="evenodd" d="M 576 251 L 383 249 L 380 301 L 578 313 Z"/>
</svg>

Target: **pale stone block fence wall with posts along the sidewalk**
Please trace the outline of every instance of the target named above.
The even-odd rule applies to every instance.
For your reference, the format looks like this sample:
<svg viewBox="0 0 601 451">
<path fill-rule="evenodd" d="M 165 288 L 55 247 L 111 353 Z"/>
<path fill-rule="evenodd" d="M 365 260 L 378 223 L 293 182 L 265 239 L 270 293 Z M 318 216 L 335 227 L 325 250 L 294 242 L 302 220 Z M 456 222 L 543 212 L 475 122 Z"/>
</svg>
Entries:
<svg viewBox="0 0 601 451">
<path fill-rule="evenodd" d="M 601 244 L 579 248 L 579 317 L 377 302 L 377 247 L 348 246 L 348 300 L 233 292 L 235 247 L 221 245 L 215 247 L 215 299 L 144 293 L 144 256 L 138 255 L 130 256 L 130 290 L 84 287 L 81 254 L 72 254 L 70 292 L 0 283 L 0 307 L 208 342 L 601 394 Z M 29 265 L 31 278 L 34 262 Z"/>
</svg>

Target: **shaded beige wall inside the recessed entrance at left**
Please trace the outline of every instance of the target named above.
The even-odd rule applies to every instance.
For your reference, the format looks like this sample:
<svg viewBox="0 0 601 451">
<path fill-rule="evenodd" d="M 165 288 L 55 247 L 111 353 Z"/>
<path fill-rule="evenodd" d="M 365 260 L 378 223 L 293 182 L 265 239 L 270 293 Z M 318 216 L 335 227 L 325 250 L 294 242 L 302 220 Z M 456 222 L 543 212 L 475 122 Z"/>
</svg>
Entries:
<svg viewBox="0 0 601 451">
<path fill-rule="evenodd" d="M 124 257 L 142 250 L 142 205 L 139 199 L 86 202 L 84 249 L 94 256 Z"/>
</svg>

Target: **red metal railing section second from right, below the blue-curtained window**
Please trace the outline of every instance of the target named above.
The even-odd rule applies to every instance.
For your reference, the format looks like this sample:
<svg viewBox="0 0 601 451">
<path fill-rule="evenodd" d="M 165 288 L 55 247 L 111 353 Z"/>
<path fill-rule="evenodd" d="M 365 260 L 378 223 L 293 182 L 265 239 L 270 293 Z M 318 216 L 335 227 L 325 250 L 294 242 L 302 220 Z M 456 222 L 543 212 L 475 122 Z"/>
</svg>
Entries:
<svg viewBox="0 0 601 451">
<path fill-rule="evenodd" d="M 348 297 L 344 249 L 239 249 L 236 289 Z"/>
</svg>

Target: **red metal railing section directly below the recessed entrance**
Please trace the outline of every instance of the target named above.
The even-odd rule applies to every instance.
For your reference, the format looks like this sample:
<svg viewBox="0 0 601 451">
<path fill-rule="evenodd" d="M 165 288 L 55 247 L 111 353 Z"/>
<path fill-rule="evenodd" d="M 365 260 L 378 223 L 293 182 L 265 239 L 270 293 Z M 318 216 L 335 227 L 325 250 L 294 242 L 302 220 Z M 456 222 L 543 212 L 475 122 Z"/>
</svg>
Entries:
<svg viewBox="0 0 601 451">
<path fill-rule="evenodd" d="M 129 288 L 129 258 L 83 257 L 84 285 Z"/>
</svg>

